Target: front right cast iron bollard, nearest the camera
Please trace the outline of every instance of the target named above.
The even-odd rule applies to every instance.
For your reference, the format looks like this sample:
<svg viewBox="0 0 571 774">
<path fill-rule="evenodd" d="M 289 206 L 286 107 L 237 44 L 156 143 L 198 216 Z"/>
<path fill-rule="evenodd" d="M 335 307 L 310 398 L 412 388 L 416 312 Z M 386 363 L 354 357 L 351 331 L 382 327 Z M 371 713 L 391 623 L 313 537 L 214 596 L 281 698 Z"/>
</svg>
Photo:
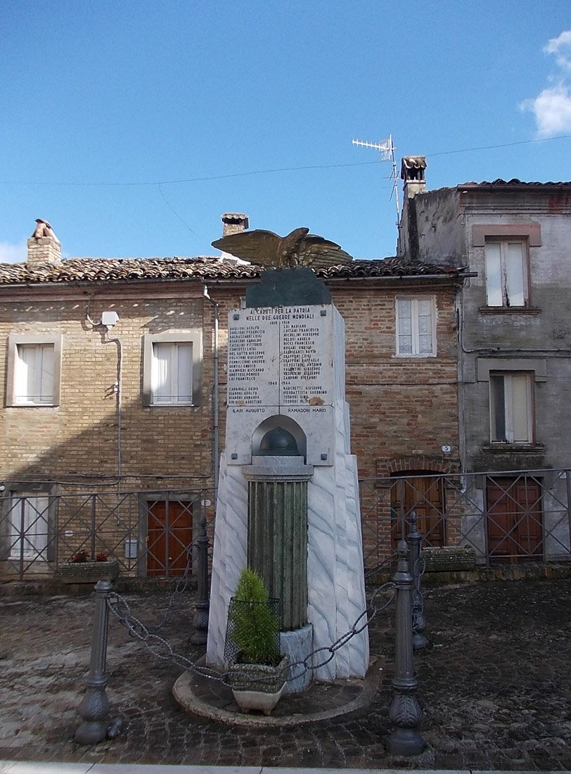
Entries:
<svg viewBox="0 0 571 774">
<path fill-rule="evenodd" d="M 422 721 L 422 710 L 416 699 L 419 685 L 412 658 L 412 576 L 406 560 L 406 543 L 398 543 L 398 566 L 393 578 L 396 587 L 396 654 L 395 676 L 392 687 L 395 695 L 388 708 L 388 717 L 397 728 L 387 738 L 387 749 L 392 755 L 419 755 L 426 742 L 417 731 Z"/>
</svg>

